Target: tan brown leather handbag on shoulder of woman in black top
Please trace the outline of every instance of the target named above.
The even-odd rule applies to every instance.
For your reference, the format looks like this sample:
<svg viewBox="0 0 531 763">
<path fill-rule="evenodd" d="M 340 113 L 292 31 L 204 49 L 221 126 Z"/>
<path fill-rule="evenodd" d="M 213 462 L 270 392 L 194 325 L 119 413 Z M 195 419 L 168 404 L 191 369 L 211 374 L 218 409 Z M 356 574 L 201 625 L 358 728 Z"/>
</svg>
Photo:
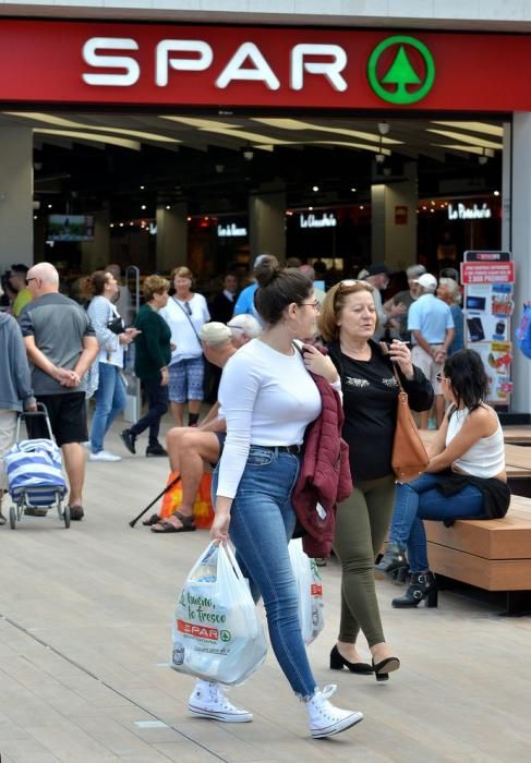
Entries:
<svg viewBox="0 0 531 763">
<path fill-rule="evenodd" d="M 411 482 L 425 470 L 430 462 L 424 444 L 414 423 L 397 370 L 393 368 L 398 382 L 397 428 L 393 440 L 391 467 L 398 482 Z"/>
</svg>

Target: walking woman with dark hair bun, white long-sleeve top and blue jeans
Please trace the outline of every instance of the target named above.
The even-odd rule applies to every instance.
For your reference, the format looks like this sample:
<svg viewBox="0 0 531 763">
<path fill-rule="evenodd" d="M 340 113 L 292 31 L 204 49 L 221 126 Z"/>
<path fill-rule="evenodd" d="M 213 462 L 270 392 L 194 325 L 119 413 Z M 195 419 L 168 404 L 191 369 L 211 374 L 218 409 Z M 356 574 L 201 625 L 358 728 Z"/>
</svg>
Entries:
<svg viewBox="0 0 531 763">
<path fill-rule="evenodd" d="M 317 689 L 301 634 L 299 595 L 288 542 L 295 516 L 291 495 L 299 473 L 306 426 L 321 413 L 321 396 L 306 368 L 339 388 L 331 361 L 293 340 L 315 335 L 318 302 L 312 281 L 297 270 L 281 271 L 264 257 L 255 270 L 256 308 L 266 324 L 260 338 L 232 355 L 224 368 L 219 401 L 227 439 L 215 471 L 214 541 L 234 543 L 255 601 L 262 596 L 273 650 L 295 694 L 305 702 L 313 737 L 353 726 L 361 713 L 339 710 Z M 192 713 L 225 722 L 252 720 L 229 703 L 217 683 L 197 681 Z"/>
</svg>

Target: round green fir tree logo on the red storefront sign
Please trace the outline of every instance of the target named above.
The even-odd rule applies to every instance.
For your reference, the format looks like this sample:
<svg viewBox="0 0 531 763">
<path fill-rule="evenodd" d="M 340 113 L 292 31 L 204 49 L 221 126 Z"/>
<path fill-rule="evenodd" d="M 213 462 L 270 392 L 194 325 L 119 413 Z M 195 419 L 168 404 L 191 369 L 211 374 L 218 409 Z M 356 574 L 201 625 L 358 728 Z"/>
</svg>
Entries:
<svg viewBox="0 0 531 763">
<path fill-rule="evenodd" d="M 378 64 L 388 48 L 397 48 L 388 70 L 378 74 Z M 411 48 L 420 53 L 424 71 L 411 63 Z M 408 56 L 408 49 L 410 55 Z M 418 56 L 413 60 L 418 59 Z M 421 77 L 422 75 L 422 77 Z M 435 62 L 426 46 L 415 37 L 396 35 L 382 40 L 373 50 L 367 63 L 367 78 L 374 93 L 389 104 L 414 104 L 424 98 L 433 87 Z M 414 88 L 414 89 L 413 89 Z"/>
</svg>

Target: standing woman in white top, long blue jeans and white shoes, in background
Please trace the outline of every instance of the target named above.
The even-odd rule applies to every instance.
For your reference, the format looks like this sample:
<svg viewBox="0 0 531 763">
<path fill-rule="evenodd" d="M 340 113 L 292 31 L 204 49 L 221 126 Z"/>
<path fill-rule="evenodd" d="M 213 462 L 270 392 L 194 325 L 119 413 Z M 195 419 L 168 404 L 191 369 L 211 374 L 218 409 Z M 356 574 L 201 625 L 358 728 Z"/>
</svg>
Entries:
<svg viewBox="0 0 531 763">
<path fill-rule="evenodd" d="M 96 270 L 86 279 L 85 292 L 92 296 L 88 317 L 99 343 L 96 410 L 90 427 L 90 461 L 121 461 L 104 449 L 104 439 L 117 415 L 125 408 L 125 385 L 120 376 L 123 348 L 138 331 L 125 328 L 112 301 L 118 295 L 118 281 L 111 272 Z"/>
</svg>

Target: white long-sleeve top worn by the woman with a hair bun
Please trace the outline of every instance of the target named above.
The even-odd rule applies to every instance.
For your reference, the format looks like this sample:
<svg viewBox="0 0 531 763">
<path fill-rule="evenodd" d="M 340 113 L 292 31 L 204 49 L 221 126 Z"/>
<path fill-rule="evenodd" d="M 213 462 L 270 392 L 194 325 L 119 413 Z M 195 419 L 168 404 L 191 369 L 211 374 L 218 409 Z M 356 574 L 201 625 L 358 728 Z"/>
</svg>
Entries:
<svg viewBox="0 0 531 763">
<path fill-rule="evenodd" d="M 251 445 L 301 445 L 321 413 L 321 395 L 302 356 L 253 339 L 227 362 L 218 399 L 227 421 L 217 495 L 233 498 Z"/>
</svg>

